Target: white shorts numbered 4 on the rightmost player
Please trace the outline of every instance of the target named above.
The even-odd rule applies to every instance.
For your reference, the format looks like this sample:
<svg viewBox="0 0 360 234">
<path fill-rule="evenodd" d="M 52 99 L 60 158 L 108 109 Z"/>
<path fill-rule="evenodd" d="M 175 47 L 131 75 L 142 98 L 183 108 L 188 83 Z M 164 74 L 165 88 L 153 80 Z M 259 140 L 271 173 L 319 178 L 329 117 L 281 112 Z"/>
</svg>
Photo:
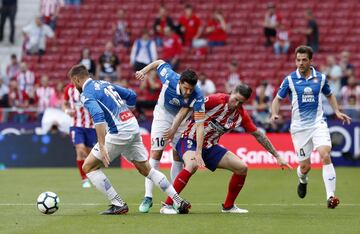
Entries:
<svg viewBox="0 0 360 234">
<path fill-rule="evenodd" d="M 331 147 L 330 131 L 325 121 L 315 128 L 295 132 L 291 138 L 299 161 L 310 158 L 311 152 L 319 146 Z"/>
</svg>

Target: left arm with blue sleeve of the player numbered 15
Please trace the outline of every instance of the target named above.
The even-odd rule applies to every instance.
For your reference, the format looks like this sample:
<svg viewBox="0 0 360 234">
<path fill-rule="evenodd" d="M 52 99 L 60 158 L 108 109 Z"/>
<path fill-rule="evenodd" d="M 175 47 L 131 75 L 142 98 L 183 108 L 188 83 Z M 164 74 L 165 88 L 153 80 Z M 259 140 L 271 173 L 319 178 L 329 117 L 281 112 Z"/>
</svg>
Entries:
<svg viewBox="0 0 360 234">
<path fill-rule="evenodd" d="M 108 167 L 110 164 L 109 154 L 105 148 L 105 136 L 106 136 L 106 122 L 104 111 L 101 109 L 99 104 L 95 99 L 81 97 L 81 101 L 84 104 L 85 108 L 91 114 L 91 117 L 94 121 L 95 131 L 98 139 L 99 150 L 102 156 L 102 161 L 105 167 Z"/>
</svg>

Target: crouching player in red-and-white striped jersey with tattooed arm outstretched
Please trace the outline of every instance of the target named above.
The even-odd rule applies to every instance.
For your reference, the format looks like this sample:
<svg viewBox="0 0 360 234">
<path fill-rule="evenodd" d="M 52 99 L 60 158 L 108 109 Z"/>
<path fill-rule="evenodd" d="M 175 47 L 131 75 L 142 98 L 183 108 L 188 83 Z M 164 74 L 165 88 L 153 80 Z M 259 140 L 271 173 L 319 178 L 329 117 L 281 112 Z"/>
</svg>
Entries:
<svg viewBox="0 0 360 234">
<path fill-rule="evenodd" d="M 251 96 L 252 90 L 245 84 L 240 84 L 228 94 L 213 94 L 205 98 L 205 122 L 204 122 L 204 144 L 202 149 L 202 158 L 205 166 L 215 171 L 217 168 L 227 169 L 233 172 L 229 182 L 228 194 L 222 205 L 223 213 L 247 213 L 245 209 L 238 208 L 234 202 L 241 191 L 247 175 L 247 165 L 233 152 L 218 144 L 220 137 L 231 130 L 241 126 L 246 132 L 253 135 L 256 140 L 277 160 L 277 163 L 283 168 L 291 166 L 286 163 L 276 152 L 269 139 L 256 128 L 243 103 Z M 181 109 L 179 115 L 186 112 Z M 174 126 L 179 124 L 178 116 L 174 121 Z M 172 138 L 174 130 L 169 132 L 168 137 Z M 190 177 L 196 172 L 198 165 L 194 161 L 197 146 L 196 136 L 198 132 L 194 128 L 194 121 L 190 122 L 187 129 L 176 145 L 177 153 L 185 163 L 185 168 L 176 177 L 173 185 L 178 193 L 188 183 Z M 168 198 L 160 213 L 175 214 L 172 207 L 172 201 Z"/>
</svg>

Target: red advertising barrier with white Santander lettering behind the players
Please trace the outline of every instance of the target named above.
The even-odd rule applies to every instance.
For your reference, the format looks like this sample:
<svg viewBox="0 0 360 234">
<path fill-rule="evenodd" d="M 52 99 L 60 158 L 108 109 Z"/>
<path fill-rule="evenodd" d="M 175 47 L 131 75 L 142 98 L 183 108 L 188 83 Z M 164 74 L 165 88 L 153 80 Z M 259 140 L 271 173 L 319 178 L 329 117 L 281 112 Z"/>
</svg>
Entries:
<svg viewBox="0 0 360 234">
<path fill-rule="evenodd" d="M 267 136 L 278 150 L 278 153 L 293 167 L 296 167 L 298 160 L 294 152 L 290 134 L 267 134 Z M 150 152 L 150 135 L 143 135 L 143 142 L 148 152 Z M 278 168 L 274 157 L 249 134 L 224 135 L 220 140 L 220 144 L 242 158 L 249 168 Z M 123 168 L 133 168 L 132 164 L 124 158 L 121 158 L 121 162 Z M 171 162 L 171 147 L 167 146 L 163 153 L 160 166 L 161 168 L 170 168 Z M 317 152 L 312 153 L 311 162 L 312 168 L 321 168 L 321 160 Z"/>
</svg>

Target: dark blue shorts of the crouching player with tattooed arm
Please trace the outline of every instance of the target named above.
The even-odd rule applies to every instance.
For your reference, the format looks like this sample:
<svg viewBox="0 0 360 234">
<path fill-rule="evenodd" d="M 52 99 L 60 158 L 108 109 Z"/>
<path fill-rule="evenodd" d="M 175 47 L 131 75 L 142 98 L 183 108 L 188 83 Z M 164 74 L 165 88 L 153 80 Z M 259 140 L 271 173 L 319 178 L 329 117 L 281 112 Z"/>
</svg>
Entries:
<svg viewBox="0 0 360 234">
<path fill-rule="evenodd" d="M 189 150 L 196 151 L 196 141 L 188 138 L 180 138 L 180 140 L 176 144 L 176 151 L 181 160 L 185 152 Z M 219 145 L 211 146 L 208 149 L 203 148 L 202 158 L 204 160 L 205 166 L 210 171 L 215 171 L 220 160 L 224 157 L 226 152 L 228 152 L 228 150 Z"/>
</svg>

